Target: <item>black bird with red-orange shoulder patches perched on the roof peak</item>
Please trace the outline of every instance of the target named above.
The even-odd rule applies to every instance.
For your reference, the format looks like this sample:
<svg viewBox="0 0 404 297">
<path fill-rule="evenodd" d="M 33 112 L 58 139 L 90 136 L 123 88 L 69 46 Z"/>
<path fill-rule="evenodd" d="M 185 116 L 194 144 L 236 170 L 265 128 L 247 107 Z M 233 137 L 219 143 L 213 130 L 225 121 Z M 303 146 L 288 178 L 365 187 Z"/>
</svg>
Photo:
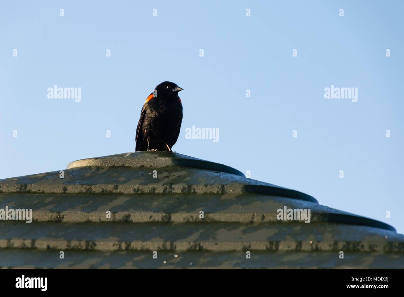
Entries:
<svg viewBox="0 0 404 297">
<path fill-rule="evenodd" d="M 162 82 L 146 98 L 136 128 L 136 152 L 171 151 L 177 142 L 182 121 L 182 103 L 173 82 Z"/>
</svg>

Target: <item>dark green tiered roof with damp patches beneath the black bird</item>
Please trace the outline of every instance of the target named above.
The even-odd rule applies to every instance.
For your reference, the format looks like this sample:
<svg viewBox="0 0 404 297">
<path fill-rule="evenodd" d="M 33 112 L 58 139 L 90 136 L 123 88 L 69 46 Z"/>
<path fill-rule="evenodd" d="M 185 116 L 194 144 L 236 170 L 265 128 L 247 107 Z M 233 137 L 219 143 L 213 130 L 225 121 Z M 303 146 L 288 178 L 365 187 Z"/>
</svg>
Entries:
<svg viewBox="0 0 404 297">
<path fill-rule="evenodd" d="M 222 164 L 135 152 L 59 175 L 0 180 L 0 209 L 33 217 L 0 221 L 0 267 L 404 268 L 404 236 L 390 225 Z M 310 223 L 278 220 L 285 206 L 310 209 Z"/>
</svg>

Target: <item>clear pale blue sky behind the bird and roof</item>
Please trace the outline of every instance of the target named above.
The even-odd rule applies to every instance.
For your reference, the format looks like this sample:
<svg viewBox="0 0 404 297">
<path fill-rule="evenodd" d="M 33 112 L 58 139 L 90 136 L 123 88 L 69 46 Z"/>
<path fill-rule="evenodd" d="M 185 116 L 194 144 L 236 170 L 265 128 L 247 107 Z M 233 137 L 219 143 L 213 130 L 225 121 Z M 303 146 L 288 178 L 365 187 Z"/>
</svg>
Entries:
<svg viewBox="0 0 404 297">
<path fill-rule="evenodd" d="M 143 102 L 169 80 L 184 88 L 175 151 L 404 233 L 403 11 L 402 1 L 2 1 L 0 178 L 135 151 Z M 81 101 L 48 99 L 55 84 L 80 87 Z M 357 87 L 358 101 L 325 99 L 331 85 Z M 192 125 L 218 128 L 219 141 L 185 139 Z"/>
</svg>

